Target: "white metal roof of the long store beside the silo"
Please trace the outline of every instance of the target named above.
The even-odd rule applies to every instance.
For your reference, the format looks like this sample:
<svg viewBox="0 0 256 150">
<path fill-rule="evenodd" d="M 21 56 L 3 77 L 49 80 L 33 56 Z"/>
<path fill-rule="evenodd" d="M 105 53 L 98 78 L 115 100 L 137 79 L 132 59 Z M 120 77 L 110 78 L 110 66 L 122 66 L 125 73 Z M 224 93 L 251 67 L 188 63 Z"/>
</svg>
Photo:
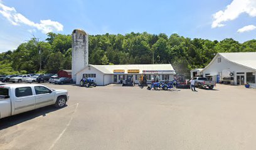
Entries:
<svg viewBox="0 0 256 150">
<path fill-rule="evenodd" d="M 90 64 L 89 66 L 95 69 L 98 69 L 104 74 L 113 74 L 115 69 L 125 70 L 125 74 L 127 74 L 128 69 L 139 69 L 139 74 L 142 74 L 143 71 L 158 71 L 158 73 L 175 74 L 175 71 L 173 69 L 173 66 L 171 66 L 171 64 L 118 64 L 118 65 Z M 83 71 L 83 69 L 81 71 Z M 80 73 L 81 71 L 79 71 L 78 73 Z"/>
</svg>

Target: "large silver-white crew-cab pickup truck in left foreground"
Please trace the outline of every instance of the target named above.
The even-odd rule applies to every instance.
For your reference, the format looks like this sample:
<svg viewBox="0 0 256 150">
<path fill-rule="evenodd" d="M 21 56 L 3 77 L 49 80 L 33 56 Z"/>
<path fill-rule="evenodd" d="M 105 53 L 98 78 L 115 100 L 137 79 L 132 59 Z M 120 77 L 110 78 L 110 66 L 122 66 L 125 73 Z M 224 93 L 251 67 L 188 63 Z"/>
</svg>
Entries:
<svg viewBox="0 0 256 150">
<path fill-rule="evenodd" d="M 0 119 L 54 104 L 65 106 L 69 99 L 64 89 L 49 89 L 41 84 L 6 84 L 0 86 Z"/>
</svg>

